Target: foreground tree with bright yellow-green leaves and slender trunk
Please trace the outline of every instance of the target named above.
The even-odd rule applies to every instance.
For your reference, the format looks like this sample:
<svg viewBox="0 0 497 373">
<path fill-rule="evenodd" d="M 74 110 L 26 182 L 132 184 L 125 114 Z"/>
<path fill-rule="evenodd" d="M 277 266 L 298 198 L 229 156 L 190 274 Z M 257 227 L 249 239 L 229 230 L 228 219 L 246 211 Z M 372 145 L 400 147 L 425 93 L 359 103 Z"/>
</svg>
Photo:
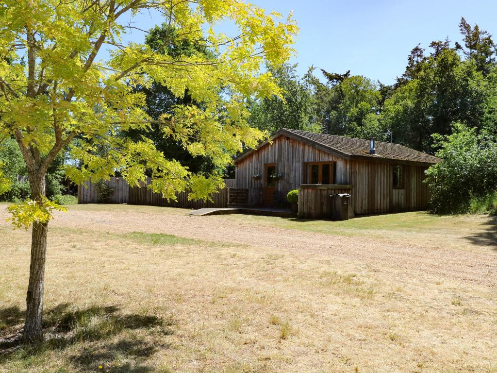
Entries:
<svg viewBox="0 0 497 373">
<path fill-rule="evenodd" d="M 129 18 L 149 10 L 174 30 L 157 51 L 121 38 L 134 27 Z M 128 21 L 120 22 L 124 15 Z M 43 335 L 48 221 L 54 209 L 62 209 L 45 196 L 45 174 L 57 155 L 67 148 L 79 160 L 80 167 L 74 162 L 65 166 L 76 183 L 119 171 L 133 185 L 149 174 L 150 188 L 167 198 L 186 188 L 191 198 L 207 198 L 223 185 L 219 175 L 190 172 L 166 159 L 149 139 L 116 136 L 152 122 L 144 94 L 133 87 L 155 81 L 175 96 L 187 90 L 202 106 L 175 106 L 172 115 L 161 115 L 163 132 L 193 156 L 210 157 L 216 166 L 229 163 L 244 144 L 253 147 L 264 136 L 247 124 L 247 98 L 279 92 L 270 74 L 259 72 L 261 65 L 278 66 L 292 53 L 297 27 L 290 17 L 285 22 L 278 17 L 240 0 L 3 1 L 0 140 L 15 138 L 31 187 L 30 201 L 9 206 L 15 226 L 32 225 L 25 343 Z M 237 36 L 214 31 L 216 23 L 226 20 L 236 24 Z M 171 39 L 173 45 L 204 45 L 212 57 L 162 53 Z M 112 48 L 110 57 L 99 61 L 106 46 Z M 218 94 L 220 86 L 227 94 Z"/>
</svg>

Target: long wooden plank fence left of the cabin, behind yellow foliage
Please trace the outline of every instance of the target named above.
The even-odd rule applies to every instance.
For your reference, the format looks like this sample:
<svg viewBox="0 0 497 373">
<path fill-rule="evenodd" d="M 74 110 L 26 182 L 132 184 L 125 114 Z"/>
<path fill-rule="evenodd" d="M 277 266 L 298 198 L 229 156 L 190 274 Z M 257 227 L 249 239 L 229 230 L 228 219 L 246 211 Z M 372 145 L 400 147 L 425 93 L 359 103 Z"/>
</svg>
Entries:
<svg viewBox="0 0 497 373">
<path fill-rule="evenodd" d="M 188 192 L 177 194 L 177 200 L 167 200 L 161 194 L 154 193 L 146 186 L 150 184 L 151 179 L 147 178 L 147 184 L 141 183 L 142 187 L 130 187 L 123 178 L 110 178 L 103 182 L 113 191 L 110 195 L 109 203 L 129 203 L 137 205 L 150 206 L 170 206 L 185 208 L 203 208 L 203 207 L 228 207 L 229 204 L 229 186 L 235 185 L 235 179 L 225 179 L 226 187 L 218 193 L 211 196 L 212 201 L 191 201 L 188 200 Z M 83 186 L 78 186 L 78 203 L 98 203 L 99 195 L 96 184 L 91 181 L 85 182 Z"/>
</svg>

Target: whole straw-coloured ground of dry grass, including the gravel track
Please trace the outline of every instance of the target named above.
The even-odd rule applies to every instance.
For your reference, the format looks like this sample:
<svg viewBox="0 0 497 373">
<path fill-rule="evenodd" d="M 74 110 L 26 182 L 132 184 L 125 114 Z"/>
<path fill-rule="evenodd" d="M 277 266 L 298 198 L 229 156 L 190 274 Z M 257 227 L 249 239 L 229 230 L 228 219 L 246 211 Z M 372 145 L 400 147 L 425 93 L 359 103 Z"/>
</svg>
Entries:
<svg viewBox="0 0 497 373">
<path fill-rule="evenodd" d="M 0 341 L 22 327 L 29 268 L 5 206 Z M 495 218 L 185 212 L 58 214 L 47 341 L 0 353 L 0 372 L 497 372 Z"/>
</svg>

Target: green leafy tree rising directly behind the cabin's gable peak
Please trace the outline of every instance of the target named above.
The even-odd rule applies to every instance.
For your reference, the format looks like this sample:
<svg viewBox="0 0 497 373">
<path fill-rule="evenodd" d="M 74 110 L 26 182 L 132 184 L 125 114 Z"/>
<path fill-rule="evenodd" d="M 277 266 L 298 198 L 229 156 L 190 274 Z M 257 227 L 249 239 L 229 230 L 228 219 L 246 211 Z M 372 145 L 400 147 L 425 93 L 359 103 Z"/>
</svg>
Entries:
<svg viewBox="0 0 497 373">
<path fill-rule="evenodd" d="M 249 122 L 253 127 L 269 132 L 276 132 L 280 128 L 311 132 L 319 130 L 314 119 L 314 68 L 309 68 L 302 79 L 297 76 L 296 68 L 296 65 L 288 64 L 277 69 L 269 67 L 281 95 L 273 94 L 252 102 Z"/>
</svg>

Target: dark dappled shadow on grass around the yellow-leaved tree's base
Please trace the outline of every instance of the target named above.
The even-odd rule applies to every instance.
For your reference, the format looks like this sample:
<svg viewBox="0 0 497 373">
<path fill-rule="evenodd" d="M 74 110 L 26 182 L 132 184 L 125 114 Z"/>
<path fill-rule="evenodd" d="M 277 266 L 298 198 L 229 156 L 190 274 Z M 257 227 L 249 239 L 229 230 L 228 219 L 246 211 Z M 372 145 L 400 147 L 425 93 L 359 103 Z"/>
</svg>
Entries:
<svg viewBox="0 0 497 373">
<path fill-rule="evenodd" d="M 59 351 L 80 372 L 98 371 L 100 365 L 106 367 L 105 372 L 151 372 L 142 363 L 159 347 L 168 348 L 167 343 L 158 343 L 157 339 L 172 333 L 170 318 L 147 313 L 122 314 L 115 306 L 70 310 L 70 304 L 64 303 L 45 312 L 45 341 L 23 346 L 24 312 L 17 307 L 3 308 L 0 317 L 6 326 L 0 334 L 0 364 L 36 362 L 50 351 Z M 147 333 L 129 333 L 134 330 L 149 330 L 156 339 L 150 341 Z"/>
</svg>

